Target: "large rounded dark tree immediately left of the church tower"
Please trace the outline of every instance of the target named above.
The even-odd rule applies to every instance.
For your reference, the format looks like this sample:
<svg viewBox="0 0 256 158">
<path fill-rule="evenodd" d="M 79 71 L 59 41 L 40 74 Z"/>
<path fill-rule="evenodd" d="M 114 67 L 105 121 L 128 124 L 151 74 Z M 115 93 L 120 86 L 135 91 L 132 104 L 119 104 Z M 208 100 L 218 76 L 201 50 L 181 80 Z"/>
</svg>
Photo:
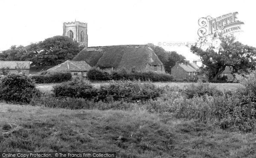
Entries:
<svg viewBox="0 0 256 158">
<path fill-rule="evenodd" d="M 33 64 L 57 65 L 65 60 L 72 60 L 79 53 L 79 43 L 67 36 L 54 36 L 39 42 L 36 49 L 35 46 L 31 49 L 28 56 L 33 56 Z"/>
</svg>

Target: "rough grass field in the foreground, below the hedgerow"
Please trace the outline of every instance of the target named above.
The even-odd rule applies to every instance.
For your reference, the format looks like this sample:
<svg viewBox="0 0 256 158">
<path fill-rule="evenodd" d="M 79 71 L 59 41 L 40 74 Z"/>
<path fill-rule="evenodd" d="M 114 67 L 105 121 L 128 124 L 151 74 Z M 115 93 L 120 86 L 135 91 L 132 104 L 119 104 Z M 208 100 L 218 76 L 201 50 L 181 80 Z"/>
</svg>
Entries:
<svg viewBox="0 0 256 158">
<path fill-rule="evenodd" d="M 0 103 L 0 152 L 117 152 L 118 157 L 255 158 L 256 133 L 134 109 L 68 110 Z"/>
</svg>

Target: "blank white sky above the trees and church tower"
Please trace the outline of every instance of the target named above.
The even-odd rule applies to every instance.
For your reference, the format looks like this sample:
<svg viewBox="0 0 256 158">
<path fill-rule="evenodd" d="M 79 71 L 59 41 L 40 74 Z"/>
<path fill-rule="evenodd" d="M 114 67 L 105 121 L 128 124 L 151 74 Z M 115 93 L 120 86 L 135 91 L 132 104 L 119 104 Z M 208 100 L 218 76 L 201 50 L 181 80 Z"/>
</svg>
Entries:
<svg viewBox="0 0 256 158">
<path fill-rule="evenodd" d="M 76 20 L 87 23 L 88 47 L 153 43 L 196 60 L 184 43 L 197 41 L 201 17 L 237 11 L 237 40 L 256 47 L 254 8 L 245 0 L 0 0 L 0 51 L 62 35 Z"/>
</svg>

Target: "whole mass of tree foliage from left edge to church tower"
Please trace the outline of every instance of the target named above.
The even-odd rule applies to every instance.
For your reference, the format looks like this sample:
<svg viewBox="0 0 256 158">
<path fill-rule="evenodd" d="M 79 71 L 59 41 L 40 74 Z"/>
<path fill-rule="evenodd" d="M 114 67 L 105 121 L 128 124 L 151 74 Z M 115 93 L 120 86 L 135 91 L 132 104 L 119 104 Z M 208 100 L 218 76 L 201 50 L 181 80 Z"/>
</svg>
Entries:
<svg viewBox="0 0 256 158">
<path fill-rule="evenodd" d="M 29 60 L 32 65 L 57 65 L 72 60 L 83 47 L 67 36 L 54 36 L 28 46 L 12 46 L 0 54 L 0 60 Z"/>
</svg>

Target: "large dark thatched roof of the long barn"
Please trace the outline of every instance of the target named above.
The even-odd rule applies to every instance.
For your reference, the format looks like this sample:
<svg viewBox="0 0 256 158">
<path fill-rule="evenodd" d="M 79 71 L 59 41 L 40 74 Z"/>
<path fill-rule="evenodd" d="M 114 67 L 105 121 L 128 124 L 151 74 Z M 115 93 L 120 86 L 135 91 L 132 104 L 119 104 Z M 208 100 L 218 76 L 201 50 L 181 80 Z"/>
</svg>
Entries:
<svg viewBox="0 0 256 158">
<path fill-rule="evenodd" d="M 98 46 L 83 49 L 73 60 L 84 60 L 90 66 L 143 71 L 146 64 L 163 65 L 148 45 Z"/>
</svg>

